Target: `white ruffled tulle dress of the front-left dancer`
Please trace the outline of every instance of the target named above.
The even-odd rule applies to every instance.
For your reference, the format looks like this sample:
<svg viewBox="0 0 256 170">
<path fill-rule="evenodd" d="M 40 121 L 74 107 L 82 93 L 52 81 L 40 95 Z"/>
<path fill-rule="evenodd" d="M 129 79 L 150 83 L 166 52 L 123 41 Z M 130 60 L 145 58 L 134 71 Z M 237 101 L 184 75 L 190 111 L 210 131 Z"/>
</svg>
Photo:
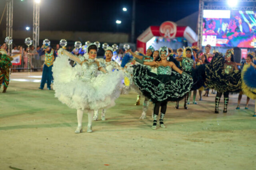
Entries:
<svg viewBox="0 0 256 170">
<path fill-rule="evenodd" d="M 98 74 L 104 63 L 80 57 L 82 65 L 69 64 L 68 56 L 58 54 L 52 72 L 55 97 L 73 109 L 105 109 L 115 105 L 122 88 L 122 73 L 115 70 Z"/>
</svg>

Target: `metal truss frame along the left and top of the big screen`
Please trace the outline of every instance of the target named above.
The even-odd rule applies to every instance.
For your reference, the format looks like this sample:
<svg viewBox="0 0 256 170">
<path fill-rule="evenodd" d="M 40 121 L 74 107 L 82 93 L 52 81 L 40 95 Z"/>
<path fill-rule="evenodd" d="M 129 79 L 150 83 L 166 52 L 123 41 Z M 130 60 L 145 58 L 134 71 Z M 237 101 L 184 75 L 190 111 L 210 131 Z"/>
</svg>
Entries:
<svg viewBox="0 0 256 170">
<path fill-rule="evenodd" d="M 227 2 L 227 0 L 199 0 L 199 15 L 198 15 L 198 25 L 197 25 L 197 34 L 198 34 L 198 47 L 202 48 L 202 32 L 203 32 L 203 10 L 256 10 L 256 0 L 238 0 L 238 6 L 227 6 L 227 5 L 216 5 L 217 2 Z M 244 6 L 243 2 L 247 2 Z"/>
</svg>

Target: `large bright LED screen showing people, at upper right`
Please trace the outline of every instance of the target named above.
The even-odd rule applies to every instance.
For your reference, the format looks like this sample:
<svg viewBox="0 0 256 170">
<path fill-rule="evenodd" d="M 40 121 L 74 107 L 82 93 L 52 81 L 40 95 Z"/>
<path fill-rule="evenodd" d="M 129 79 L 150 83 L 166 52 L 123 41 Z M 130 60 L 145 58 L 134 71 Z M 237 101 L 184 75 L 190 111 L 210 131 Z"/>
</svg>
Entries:
<svg viewBox="0 0 256 170">
<path fill-rule="evenodd" d="M 202 46 L 256 48 L 256 12 L 204 10 Z"/>
</svg>

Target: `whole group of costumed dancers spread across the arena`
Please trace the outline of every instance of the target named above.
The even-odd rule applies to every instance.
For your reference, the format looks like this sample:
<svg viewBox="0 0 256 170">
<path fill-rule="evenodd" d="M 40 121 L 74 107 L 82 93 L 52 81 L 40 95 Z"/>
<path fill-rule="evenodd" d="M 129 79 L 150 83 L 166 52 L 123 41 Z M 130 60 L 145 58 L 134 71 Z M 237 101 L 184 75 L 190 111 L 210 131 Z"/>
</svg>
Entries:
<svg viewBox="0 0 256 170">
<path fill-rule="evenodd" d="M 236 109 L 240 109 L 242 94 L 248 96 L 248 108 L 249 98 L 256 99 L 256 65 L 253 63 L 255 53 L 248 53 L 246 64 L 240 71 L 234 62 L 232 49 L 228 49 L 224 57 L 217 52 L 210 54 L 210 45 L 206 49 L 208 52 L 206 50 L 206 53 L 198 55 L 198 47 L 186 47 L 178 49 L 176 56 L 167 47 L 154 50 L 150 46 L 146 54 L 134 53 L 129 49 L 126 54 L 130 60 L 123 59 L 126 63 L 120 66 L 112 61 L 112 47 L 106 48 L 106 59 L 97 59 L 98 47 L 94 43 L 87 46 L 84 55 L 75 55 L 61 48 L 58 50 L 58 57 L 49 45 L 44 45 L 42 51 L 47 55 L 40 88 L 43 89 L 45 82 L 48 82 L 50 90 L 50 73 L 53 72 L 55 96 L 68 107 L 77 110 L 78 127 L 75 133 L 83 131 L 84 111 L 88 113 L 87 132 L 90 133 L 92 121 L 98 120 L 98 110 L 102 109 L 101 119 L 106 120 L 106 109 L 114 106 L 120 94 L 129 92 L 131 88 L 138 93 L 137 105 L 144 96 L 140 119 L 146 119 L 149 102 L 153 102 L 152 129 L 157 129 L 159 111 L 159 125 L 166 127 L 164 117 L 168 102 L 176 102 L 176 109 L 179 109 L 179 101 L 184 98 L 184 109 L 188 109 L 192 91 L 193 104 L 197 104 L 197 90 L 202 99 L 203 89 L 215 89 L 215 113 L 219 113 L 222 94 L 223 112 L 227 112 L 230 92 L 240 93 Z M 10 60 L 11 57 L 0 51 L 1 81 L 3 76 L 4 80 L 8 77 L 4 70 L 10 67 Z M 70 60 L 74 63 L 70 64 Z"/>
</svg>

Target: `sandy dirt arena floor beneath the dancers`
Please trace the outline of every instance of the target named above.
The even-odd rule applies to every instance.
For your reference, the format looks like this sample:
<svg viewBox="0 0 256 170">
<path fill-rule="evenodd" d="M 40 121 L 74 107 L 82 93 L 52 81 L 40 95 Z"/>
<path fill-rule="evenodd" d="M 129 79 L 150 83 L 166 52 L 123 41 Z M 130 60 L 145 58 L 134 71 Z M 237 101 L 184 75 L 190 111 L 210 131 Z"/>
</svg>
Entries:
<svg viewBox="0 0 256 170">
<path fill-rule="evenodd" d="M 245 110 L 246 96 L 236 110 L 238 94 L 230 95 L 228 113 L 222 97 L 220 114 L 214 114 L 213 94 L 187 110 L 183 101 L 180 109 L 168 103 L 166 129 L 152 130 L 152 104 L 140 120 L 142 105 L 134 106 L 131 92 L 108 109 L 106 121 L 93 122 L 93 133 L 86 133 L 84 114 L 84 133 L 76 134 L 76 110 L 46 86 L 38 89 L 41 74 L 12 73 L 0 93 L 1 170 L 256 169 L 254 100 Z"/>
</svg>

